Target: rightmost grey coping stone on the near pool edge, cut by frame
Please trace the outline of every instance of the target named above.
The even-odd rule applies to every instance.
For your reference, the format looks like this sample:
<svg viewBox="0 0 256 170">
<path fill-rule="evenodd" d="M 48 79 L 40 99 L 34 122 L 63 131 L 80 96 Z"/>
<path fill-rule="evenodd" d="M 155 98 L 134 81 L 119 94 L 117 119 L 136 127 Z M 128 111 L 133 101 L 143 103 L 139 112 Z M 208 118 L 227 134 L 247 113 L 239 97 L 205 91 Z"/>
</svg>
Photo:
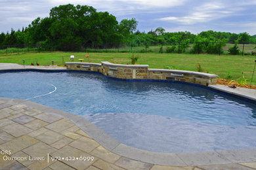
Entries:
<svg viewBox="0 0 256 170">
<path fill-rule="evenodd" d="M 256 161 L 256 148 L 243 150 L 218 150 L 217 152 L 234 163 Z"/>
</svg>

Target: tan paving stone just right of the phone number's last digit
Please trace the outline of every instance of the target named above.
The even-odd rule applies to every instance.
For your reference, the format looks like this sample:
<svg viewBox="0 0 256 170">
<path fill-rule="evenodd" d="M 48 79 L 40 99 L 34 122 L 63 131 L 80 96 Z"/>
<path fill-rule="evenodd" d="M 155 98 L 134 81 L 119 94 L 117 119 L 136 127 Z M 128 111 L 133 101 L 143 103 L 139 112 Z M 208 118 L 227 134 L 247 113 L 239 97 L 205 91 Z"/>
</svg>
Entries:
<svg viewBox="0 0 256 170">
<path fill-rule="evenodd" d="M 92 152 L 90 152 L 91 155 L 96 156 L 104 161 L 108 161 L 110 163 L 116 162 L 121 156 L 114 154 L 108 150 L 106 150 L 103 146 L 98 146 L 98 148 L 95 148 Z"/>
</svg>

